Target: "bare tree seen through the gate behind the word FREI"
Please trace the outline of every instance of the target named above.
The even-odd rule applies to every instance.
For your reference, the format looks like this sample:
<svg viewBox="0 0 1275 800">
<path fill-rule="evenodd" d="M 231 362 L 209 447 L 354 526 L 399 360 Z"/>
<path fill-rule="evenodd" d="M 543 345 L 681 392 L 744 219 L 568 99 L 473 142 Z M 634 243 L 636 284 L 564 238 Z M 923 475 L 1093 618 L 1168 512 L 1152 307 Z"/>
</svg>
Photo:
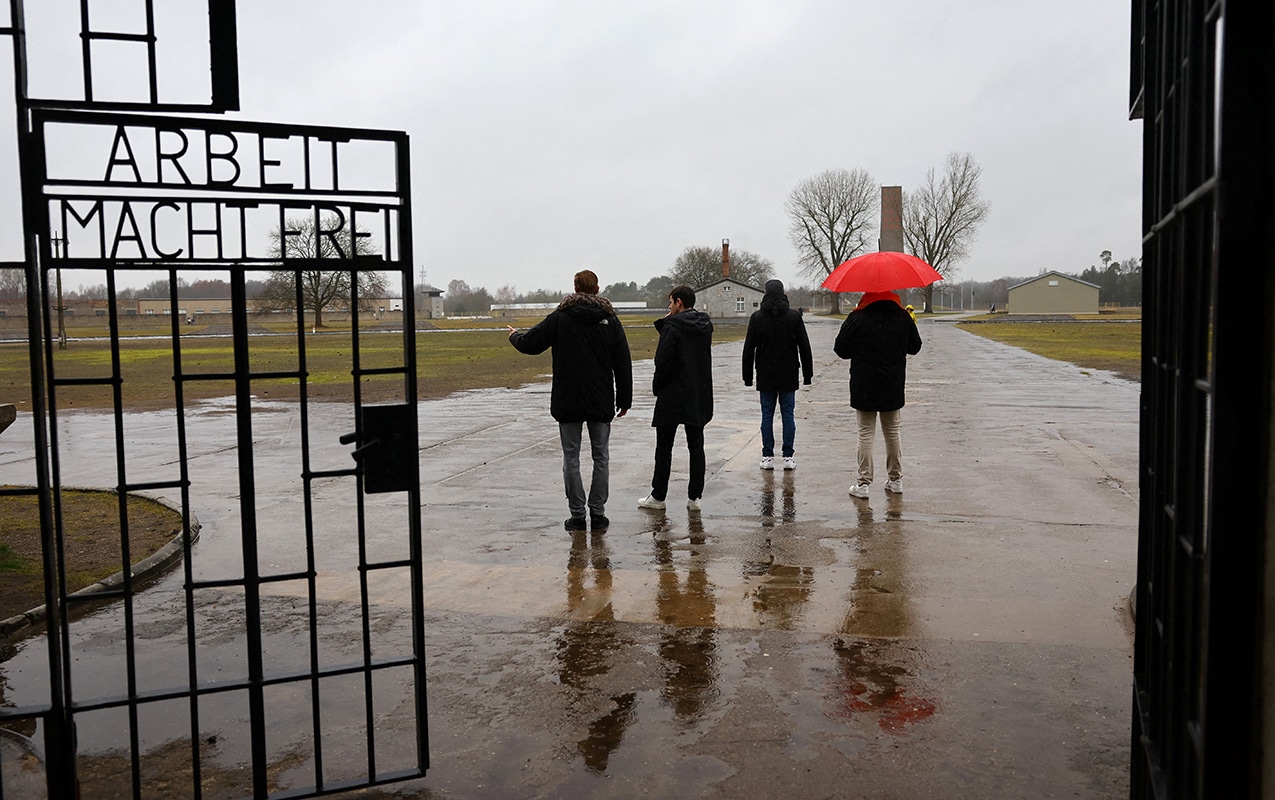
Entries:
<svg viewBox="0 0 1275 800">
<path fill-rule="evenodd" d="M 388 281 L 380 272 L 362 269 L 356 259 L 362 255 L 375 255 L 375 250 L 363 241 L 366 231 L 351 231 L 344 217 L 328 213 L 319 219 L 289 217 L 284 221 L 286 230 L 270 231 L 272 255 L 287 263 L 288 259 L 307 259 L 310 269 L 274 269 L 265 287 L 256 296 L 256 307 L 263 310 L 291 311 L 297 306 L 297 288 L 301 290 L 302 309 L 312 309 L 315 327 L 323 327 L 323 311 L 326 307 L 348 307 L 353 290 L 358 290 L 358 307 L 367 311 L 375 307 L 374 301 L 384 297 Z M 314 260 L 348 262 L 340 269 L 315 269 Z"/>
</svg>

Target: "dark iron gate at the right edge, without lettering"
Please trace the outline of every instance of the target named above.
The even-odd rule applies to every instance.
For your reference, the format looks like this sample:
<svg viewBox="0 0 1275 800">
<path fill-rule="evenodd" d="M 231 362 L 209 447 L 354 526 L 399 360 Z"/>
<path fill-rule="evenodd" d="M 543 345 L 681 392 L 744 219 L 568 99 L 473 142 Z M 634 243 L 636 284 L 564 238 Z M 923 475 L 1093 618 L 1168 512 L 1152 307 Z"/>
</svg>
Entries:
<svg viewBox="0 0 1275 800">
<path fill-rule="evenodd" d="M 1275 5 L 1132 9 L 1144 356 L 1131 794 L 1267 796 Z"/>
</svg>

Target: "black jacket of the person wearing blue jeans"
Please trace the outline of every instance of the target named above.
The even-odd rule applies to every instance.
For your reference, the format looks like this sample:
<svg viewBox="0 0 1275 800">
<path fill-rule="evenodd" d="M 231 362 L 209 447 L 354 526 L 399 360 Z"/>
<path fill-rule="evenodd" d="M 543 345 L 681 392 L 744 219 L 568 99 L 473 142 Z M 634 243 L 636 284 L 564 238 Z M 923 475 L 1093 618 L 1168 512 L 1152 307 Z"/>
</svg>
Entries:
<svg viewBox="0 0 1275 800">
<path fill-rule="evenodd" d="M 788 307 L 788 296 L 766 292 L 761 307 L 748 318 L 743 338 L 743 384 L 752 385 L 756 365 L 759 392 L 796 392 L 797 373 L 810 385 L 815 375 L 810 337 L 801 311 Z"/>
</svg>

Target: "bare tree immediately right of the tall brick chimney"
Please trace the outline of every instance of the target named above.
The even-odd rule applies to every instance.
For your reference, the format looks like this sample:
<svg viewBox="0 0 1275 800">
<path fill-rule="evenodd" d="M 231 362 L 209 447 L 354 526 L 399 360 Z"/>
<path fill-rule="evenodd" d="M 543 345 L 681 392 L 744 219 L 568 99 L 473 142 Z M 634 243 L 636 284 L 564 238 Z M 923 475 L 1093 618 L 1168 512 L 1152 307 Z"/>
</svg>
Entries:
<svg viewBox="0 0 1275 800">
<path fill-rule="evenodd" d="M 969 153 L 949 153 L 942 177 L 931 168 L 915 191 L 903 195 L 903 244 L 909 253 L 949 278 L 969 255 L 978 228 L 991 208 L 978 181 L 983 168 Z M 926 309 L 935 287 L 926 287 Z"/>
</svg>

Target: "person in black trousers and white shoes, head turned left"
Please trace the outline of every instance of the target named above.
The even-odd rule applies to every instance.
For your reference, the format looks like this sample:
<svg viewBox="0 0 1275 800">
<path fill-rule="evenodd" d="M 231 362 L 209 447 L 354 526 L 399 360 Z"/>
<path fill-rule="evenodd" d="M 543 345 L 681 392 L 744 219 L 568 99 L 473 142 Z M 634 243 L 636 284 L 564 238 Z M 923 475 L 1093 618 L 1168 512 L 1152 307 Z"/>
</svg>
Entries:
<svg viewBox="0 0 1275 800">
<path fill-rule="evenodd" d="M 686 449 L 691 453 L 686 508 L 700 510 L 704 495 L 704 426 L 713 419 L 713 320 L 695 309 L 695 290 L 676 286 L 668 293 L 668 314 L 655 320 L 659 343 L 655 346 L 655 472 L 650 494 L 639 508 L 662 509 L 668 496 L 668 476 L 673 468 L 673 438 L 677 426 L 686 429 Z"/>
</svg>

